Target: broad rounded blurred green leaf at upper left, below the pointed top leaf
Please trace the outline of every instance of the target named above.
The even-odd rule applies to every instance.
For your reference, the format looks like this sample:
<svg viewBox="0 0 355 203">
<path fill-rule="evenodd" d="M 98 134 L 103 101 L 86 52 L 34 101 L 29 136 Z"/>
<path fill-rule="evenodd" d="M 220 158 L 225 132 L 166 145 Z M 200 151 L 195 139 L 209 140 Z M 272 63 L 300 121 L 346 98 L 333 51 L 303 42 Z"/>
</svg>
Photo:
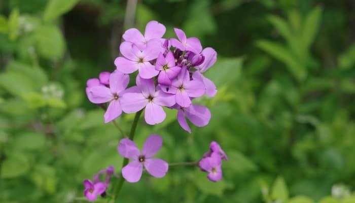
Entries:
<svg viewBox="0 0 355 203">
<path fill-rule="evenodd" d="M 35 47 L 38 53 L 50 60 L 58 60 L 64 55 L 65 41 L 58 27 L 54 25 L 39 26 L 34 31 Z"/>
</svg>

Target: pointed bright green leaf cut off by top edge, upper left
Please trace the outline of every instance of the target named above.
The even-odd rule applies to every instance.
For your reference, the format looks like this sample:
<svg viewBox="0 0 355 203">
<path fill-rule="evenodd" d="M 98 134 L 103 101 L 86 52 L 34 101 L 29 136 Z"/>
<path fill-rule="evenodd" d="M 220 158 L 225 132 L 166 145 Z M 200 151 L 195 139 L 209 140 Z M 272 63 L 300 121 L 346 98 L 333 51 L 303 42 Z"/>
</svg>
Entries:
<svg viewBox="0 0 355 203">
<path fill-rule="evenodd" d="M 43 20 L 48 22 L 63 15 L 73 9 L 78 2 L 79 0 L 50 0 L 44 11 Z"/>
</svg>

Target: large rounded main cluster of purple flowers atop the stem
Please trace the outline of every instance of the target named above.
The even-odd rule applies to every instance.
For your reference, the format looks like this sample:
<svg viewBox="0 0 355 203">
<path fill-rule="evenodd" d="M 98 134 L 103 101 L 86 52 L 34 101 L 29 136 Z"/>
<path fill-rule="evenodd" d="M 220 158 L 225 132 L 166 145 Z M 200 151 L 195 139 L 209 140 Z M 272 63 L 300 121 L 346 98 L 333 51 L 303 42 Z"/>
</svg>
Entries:
<svg viewBox="0 0 355 203">
<path fill-rule="evenodd" d="M 87 96 L 94 104 L 109 103 L 104 121 L 110 122 L 125 113 L 145 109 L 148 124 L 161 123 L 163 107 L 177 110 L 177 121 L 188 132 L 186 117 L 196 126 L 208 124 L 210 111 L 192 100 L 203 94 L 215 96 L 215 84 L 204 77 L 217 60 L 212 48 L 202 49 L 197 38 L 187 38 L 174 28 L 177 39 L 164 39 L 165 26 L 157 21 L 146 25 L 144 35 L 135 28 L 125 31 L 120 45 L 122 57 L 115 59 L 116 70 L 89 79 Z M 135 85 L 127 88 L 129 74 L 138 72 Z"/>
</svg>

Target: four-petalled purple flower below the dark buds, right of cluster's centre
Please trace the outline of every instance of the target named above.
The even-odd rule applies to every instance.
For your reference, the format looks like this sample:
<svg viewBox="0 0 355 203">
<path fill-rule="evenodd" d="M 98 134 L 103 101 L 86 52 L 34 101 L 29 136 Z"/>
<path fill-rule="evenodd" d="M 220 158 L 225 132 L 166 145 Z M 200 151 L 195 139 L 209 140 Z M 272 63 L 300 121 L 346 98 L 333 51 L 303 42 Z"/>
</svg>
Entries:
<svg viewBox="0 0 355 203">
<path fill-rule="evenodd" d="M 205 92 L 202 82 L 190 81 L 190 74 L 186 67 L 181 69 L 180 74 L 169 87 L 161 86 L 161 89 L 166 93 L 175 94 L 176 104 L 184 108 L 191 105 L 190 97 L 199 97 Z"/>
</svg>

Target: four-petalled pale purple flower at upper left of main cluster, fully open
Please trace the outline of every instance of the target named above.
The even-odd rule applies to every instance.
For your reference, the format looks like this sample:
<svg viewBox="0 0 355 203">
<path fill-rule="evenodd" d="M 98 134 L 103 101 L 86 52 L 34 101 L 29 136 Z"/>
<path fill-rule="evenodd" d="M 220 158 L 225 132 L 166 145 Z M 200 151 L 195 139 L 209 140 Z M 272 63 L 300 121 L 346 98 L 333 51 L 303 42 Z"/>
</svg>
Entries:
<svg viewBox="0 0 355 203">
<path fill-rule="evenodd" d="M 150 79 L 159 74 L 154 65 L 150 63 L 158 57 L 160 52 L 164 52 L 164 47 L 159 40 L 150 40 L 146 48 L 140 51 L 131 42 L 123 42 L 120 45 L 120 52 L 124 57 L 117 57 L 115 65 L 117 70 L 124 74 L 131 74 L 138 70 L 139 76 Z"/>
</svg>

